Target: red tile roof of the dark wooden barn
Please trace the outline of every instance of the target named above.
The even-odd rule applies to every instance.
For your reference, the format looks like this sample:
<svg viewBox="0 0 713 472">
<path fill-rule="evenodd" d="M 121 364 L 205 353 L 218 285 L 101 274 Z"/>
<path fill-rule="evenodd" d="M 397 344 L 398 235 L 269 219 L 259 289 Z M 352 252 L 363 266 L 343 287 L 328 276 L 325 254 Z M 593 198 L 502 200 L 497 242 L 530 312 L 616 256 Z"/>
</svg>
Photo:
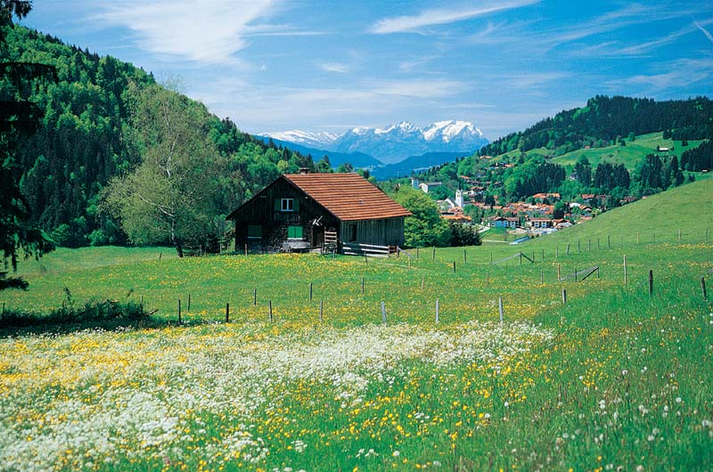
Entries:
<svg viewBox="0 0 713 472">
<path fill-rule="evenodd" d="M 411 212 L 358 174 L 286 174 L 341 221 L 376 220 L 411 216 Z"/>
</svg>

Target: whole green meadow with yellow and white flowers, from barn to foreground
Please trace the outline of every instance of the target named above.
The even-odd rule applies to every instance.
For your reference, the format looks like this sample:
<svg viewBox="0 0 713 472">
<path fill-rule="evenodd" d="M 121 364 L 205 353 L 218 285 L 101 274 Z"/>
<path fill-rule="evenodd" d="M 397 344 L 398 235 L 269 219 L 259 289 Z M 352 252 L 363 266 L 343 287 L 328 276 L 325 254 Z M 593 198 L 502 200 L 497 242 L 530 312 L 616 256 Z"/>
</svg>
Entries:
<svg viewBox="0 0 713 472">
<path fill-rule="evenodd" d="M 696 182 L 435 258 L 24 262 L 7 309 L 49 310 L 66 288 L 143 297 L 167 321 L 181 299 L 186 323 L 0 338 L 0 470 L 713 468 L 712 194 Z"/>
</svg>

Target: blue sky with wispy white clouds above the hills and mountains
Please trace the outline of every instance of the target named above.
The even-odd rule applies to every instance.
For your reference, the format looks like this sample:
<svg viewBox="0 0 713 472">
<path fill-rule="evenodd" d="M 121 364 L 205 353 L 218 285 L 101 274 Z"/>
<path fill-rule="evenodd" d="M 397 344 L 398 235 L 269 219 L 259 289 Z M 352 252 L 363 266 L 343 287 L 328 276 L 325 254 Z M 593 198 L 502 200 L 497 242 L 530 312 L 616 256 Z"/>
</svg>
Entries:
<svg viewBox="0 0 713 472">
<path fill-rule="evenodd" d="M 495 139 L 596 94 L 713 96 L 709 0 L 35 0 L 22 23 L 250 133 L 463 119 Z"/>
</svg>

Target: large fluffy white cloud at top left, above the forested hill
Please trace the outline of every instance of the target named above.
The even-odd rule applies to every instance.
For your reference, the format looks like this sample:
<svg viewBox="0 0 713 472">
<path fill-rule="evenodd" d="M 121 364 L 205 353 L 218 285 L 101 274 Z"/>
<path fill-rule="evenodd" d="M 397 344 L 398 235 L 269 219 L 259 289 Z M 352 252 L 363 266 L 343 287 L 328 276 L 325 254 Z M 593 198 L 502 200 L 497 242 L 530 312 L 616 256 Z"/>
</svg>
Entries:
<svg viewBox="0 0 713 472">
<path fill-rule="evenodd" d="M 136 45 L 151 53 L 199 62 L 224 62 L 245 47 L 250 23 L 273 0 L 131 0 L 107 5 L 99 18 L 134 31 Z"/>
</svg>

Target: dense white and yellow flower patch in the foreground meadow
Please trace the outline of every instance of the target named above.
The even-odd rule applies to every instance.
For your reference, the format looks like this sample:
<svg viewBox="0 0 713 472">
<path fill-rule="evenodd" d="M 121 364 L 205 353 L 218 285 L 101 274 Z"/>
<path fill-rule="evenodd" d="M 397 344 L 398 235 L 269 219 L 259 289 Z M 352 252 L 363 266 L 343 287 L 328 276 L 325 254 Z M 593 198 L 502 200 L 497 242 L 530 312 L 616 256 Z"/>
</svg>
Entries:
<svg viewBox="0 0 713 472">
<path fill-rule="evenodd" d="M 475 321 L 444 329 L 213 324 L 4 339 L 0 468 L 231 469 L 275 455 L 283 469 L 315 468 L 314 453 L 334 446 L 354 467 L 368 467 L 401 457 L 403 445 L 401 462 L 414 438 L 444 421 L 433 409 L 438 398 L 419 395 L 423 404 L 411 411 L 408 386 L 427 374 L 447 383 L 465 366 L 482 401 L 454 405 L 458 427 L 486 426 L 494 393 L 484 373 L 511 370 L 532 346 L 551 342 L 552 333 L 531 323 Z M 509 388 L 499 395 L 520 400 Z M 343 425 L 329 431 L 314 424 L 313 411 L 331 411 Z M 369 447 L 354 449 L 362 442 Z M 424 464 L 447 452 L 436 448 Z"/>
</svg>

